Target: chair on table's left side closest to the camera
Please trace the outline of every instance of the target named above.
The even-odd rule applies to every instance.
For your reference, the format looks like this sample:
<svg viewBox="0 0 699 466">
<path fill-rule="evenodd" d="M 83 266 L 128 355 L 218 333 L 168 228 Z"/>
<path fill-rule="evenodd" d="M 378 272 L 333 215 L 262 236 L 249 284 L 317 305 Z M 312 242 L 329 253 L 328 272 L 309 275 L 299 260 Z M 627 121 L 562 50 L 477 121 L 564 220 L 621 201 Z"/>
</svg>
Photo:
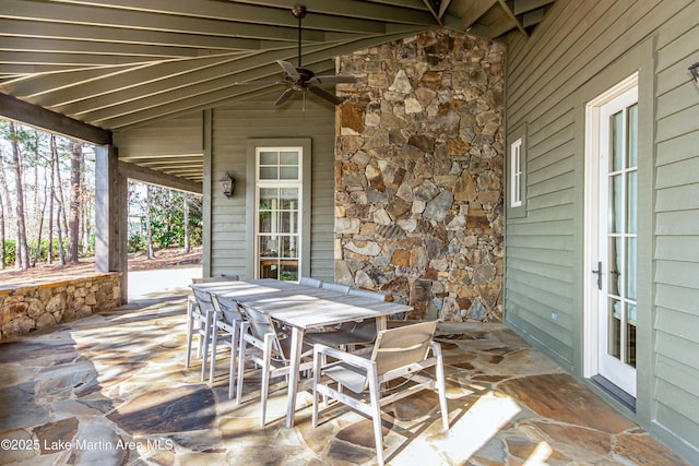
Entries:
<svg viewBox="0 0 699 466">
<path fill-rule="evenodd" d="M 245 379 L 246 360 L 253 361 L 262 368 L 260 382 L 260 426 L 266 423 L 266 401 L 270 389 L 270 380 L 277 377 L 288 379 L 291 337 L 279 334 L 272 319 L 252 308 L 244 307 L 246 320 L 240 327 L 240 346 L 238 348 L 238 385 L 236 390 L 236 404 L 242 396 L 242 382 Z M 248 333 L 249 332 L 249 333 Z M 308 351 L 310 354 L 310 350 Z M 308 371 L 312 361 L 303 362 L 300 371 Z"/>
</svg>

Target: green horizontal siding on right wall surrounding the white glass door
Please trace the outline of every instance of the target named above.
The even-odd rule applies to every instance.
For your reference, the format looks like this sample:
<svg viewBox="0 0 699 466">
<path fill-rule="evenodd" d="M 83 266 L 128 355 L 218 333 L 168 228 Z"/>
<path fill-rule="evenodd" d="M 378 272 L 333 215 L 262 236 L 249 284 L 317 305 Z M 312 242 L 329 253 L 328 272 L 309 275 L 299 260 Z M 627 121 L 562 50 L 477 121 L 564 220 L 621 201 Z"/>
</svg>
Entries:
<svg viewBox="0 0 699 466">
<path fill-rule="evenodd" d="M 557 0 L 531 37 L 508 38 L 506 86 L 507 131 L 528 135 L 526 215 L 507 220 L 505 320 L 581 374 L 584 104 L 652 50 L 637 420 L 688 458 L 699 457 L 699 92 L 687 71 L 699 61 L 697 17 L 691 0 Z"/>
</svg>

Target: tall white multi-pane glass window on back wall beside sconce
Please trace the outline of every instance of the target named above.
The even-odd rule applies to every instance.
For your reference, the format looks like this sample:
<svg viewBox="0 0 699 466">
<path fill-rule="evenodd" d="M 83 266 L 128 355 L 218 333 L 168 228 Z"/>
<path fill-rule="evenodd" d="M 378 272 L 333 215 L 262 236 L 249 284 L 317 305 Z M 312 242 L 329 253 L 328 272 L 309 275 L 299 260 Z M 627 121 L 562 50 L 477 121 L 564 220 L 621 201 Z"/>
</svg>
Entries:
<svg viewBox="0 0 699 466">
<path fill-rule="evenodd" d="M 256 148 L 256 275 L 297 280 L 300 271 L 303 147 Z"/>
</svg>

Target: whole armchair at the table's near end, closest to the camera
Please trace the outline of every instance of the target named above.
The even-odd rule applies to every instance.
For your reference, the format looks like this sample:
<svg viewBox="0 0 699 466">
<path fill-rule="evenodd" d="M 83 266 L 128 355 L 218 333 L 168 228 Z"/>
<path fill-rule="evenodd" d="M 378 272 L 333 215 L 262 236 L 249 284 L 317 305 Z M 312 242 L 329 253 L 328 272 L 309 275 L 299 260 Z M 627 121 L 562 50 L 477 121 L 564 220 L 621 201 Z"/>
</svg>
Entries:
<svg viewBox="0 0 699 466">
<path fill-rule="evenodd" d="M 433 342 L 436 321 L 422 322 L 379 332 L 369 357 L 353 355 L 324 345 L 313 347 L 313 411 L 312 425 L 318 426 L 318 394 L 330 396 L 374 420 L 377 461 L 383 465 L 383 435 L 381 407 L 425 389 L 439 392 L 439 406 L 445 430 L 449 430 L 445 369 L 441 347 Z M 431 356 L 430 356 L 431 353 Z M 324 362 L 328 357 L 333 362 Z M 437 380 L 418 372 L 435 367 Z M 321 378 L 327 382 L 321 382 Z M 381 387 L 395 379 L 405 379 L 395 391 L 381 392 Z M 331 386 L 337 384 L 337 389 Z M 359 395 L 368 391 L 369 402 L 344 393 L 345 387 Z"/>
</svg>

